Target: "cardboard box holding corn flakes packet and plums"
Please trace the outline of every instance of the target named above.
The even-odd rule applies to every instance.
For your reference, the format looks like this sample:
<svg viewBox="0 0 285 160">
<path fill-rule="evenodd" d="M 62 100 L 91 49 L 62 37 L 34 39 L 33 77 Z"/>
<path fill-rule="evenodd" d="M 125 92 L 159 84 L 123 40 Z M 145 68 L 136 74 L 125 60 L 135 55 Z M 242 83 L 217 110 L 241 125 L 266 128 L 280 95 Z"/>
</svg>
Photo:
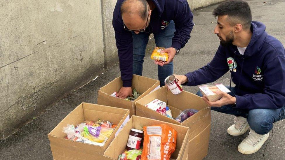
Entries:
<svg viewBox="0 0 285 160">
<path fill-rule="evenodd" d="M 196 109 L 198 112 L 180 123 L 145 107 L 147 103 L 154 99 L 166 102 L 172 112 L 172 117 L 177 117 L 180 111 L 185 109 Z M 138 100 L 136 106 L 137 116 L 189 127 L 189 159 L 203 159 L 206 157 L 211 128 L 211 108 L 201 97 L 186 91 L 174 95 L 164 86 Z"/>
</svg>

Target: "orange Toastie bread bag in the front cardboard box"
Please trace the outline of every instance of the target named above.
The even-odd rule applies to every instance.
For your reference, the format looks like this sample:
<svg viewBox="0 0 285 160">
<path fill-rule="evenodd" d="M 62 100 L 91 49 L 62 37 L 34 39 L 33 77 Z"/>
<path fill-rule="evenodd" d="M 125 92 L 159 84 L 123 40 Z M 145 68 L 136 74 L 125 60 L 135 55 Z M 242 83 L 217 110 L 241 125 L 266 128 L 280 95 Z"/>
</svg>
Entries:
<svg viewBox="0 0 285 160">
<path fill-rule="evenodd" d="M 175 151 L 177 131 L 166 124 L 143 127 L 142 160 L 169 160 Z"/>
</svg>

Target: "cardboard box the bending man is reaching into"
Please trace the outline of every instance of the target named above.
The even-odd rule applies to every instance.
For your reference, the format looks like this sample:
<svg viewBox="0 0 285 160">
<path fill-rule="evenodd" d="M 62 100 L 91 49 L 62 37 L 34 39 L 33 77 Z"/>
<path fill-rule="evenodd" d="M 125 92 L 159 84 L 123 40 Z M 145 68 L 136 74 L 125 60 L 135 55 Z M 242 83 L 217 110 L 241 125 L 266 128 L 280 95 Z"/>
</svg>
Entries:
<svg viewBox="0 0 285 160">
<path fill-rule="evenodd" d="M 123 81 L 121 80 L 121 77 L 119 77 L 100 88 L 100 90 L 98 90 L 97 103 L 105 106 L 129 109 L 130 115 L 135 115 L 135 102 L 150 92 L 157 90 L 160 87 L 160 82 L 151 78 L 133 75 L 132 89 L 135 88 L 137 92 L 141 94 L 135 101 L 126 101 L 124 99 L 111 96 L 114 92 L 118 92 L 122 86 Z"/>
</svg>

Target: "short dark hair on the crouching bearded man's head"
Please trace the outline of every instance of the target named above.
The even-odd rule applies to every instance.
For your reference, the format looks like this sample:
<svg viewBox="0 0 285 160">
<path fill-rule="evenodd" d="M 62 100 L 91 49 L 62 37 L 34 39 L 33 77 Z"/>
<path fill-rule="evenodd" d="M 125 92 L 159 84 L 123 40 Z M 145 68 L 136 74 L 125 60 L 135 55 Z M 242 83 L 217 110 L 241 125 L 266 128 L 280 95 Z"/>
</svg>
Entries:
<svg viewBox="0 0 285 160">
<path fill-rule="evenodd" d="M 252 15 L 250 7 L 246 1 L 225 1 L 214 9 L 213 15 L 228 15 L 228 21 L 232 26 L 240 23 L 244 29 L 250 29 Z"/>
</svg>

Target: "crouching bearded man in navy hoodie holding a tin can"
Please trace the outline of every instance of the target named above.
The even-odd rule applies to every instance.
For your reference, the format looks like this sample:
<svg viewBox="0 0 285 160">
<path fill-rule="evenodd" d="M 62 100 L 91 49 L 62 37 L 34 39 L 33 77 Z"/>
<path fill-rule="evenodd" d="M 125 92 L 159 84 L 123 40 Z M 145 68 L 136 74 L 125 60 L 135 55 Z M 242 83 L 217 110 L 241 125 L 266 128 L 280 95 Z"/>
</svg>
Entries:
<svg viewBox="0 0 285 160">
<path fill-rule="evenodd" d="M 214 82 L 230 70 L 235 84 L 229 87 L 231 93 L 218 92 L 223 97 L 216 102 L 202 98 L 212 110 L 236 116 L 227 129 L 230 135 L 251 129 L 238 151 L 252 154 L 265 143 L 273 124 L 285 118 L 285 50 L 265 32 L 264 24 L 252 21 L 245 1 L 221 3 L 213 15 L 218 16 L 214 33 L 220 39 L 213 60 L 196 71 L 175 76 L 179 84 L 197 86 Z"/>
</svg>

